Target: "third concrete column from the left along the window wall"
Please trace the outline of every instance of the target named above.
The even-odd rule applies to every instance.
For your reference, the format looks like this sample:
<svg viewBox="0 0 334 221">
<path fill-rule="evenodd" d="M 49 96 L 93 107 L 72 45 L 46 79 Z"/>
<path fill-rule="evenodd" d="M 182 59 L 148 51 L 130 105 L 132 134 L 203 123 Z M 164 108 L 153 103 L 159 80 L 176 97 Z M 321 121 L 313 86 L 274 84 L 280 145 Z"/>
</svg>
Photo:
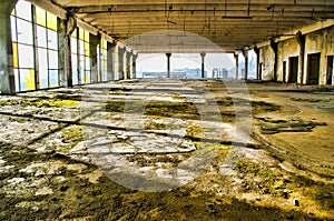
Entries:
<svg viewBox="0 0 334 221">
<path fill-rule="evenodd" d="M 90 60 L 91 60 L 91 74 L 90 74 L 90 82 L 91 83 L 96 83 L 98 82 L 98 79 L 101 79 L 99 78 L 99 72 L 98 72 L 98 53 L 97 53 L 97 48 L 98 48 L 98 44 L 100 43 L 101 41 L 101 37 L 98 34 L 98 36 L 94 36 L 91 33 L 89 33 L 89 54 L 90 54 Z"/>
</svg>

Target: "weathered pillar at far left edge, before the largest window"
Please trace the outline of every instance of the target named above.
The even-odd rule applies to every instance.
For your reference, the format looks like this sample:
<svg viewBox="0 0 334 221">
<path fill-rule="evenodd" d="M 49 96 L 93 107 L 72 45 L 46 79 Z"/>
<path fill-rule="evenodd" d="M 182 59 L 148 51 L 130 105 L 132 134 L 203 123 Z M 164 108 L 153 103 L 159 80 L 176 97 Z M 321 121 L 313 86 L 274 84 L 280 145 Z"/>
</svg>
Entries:
<svg viewBox="0 0 334 221">
<path fill-rule="evenodd" d="M 0 92 L 14 94 L 13 52 L 11 43 L 10 13 L 17 0 L 0 0 Z"/>
</svg>

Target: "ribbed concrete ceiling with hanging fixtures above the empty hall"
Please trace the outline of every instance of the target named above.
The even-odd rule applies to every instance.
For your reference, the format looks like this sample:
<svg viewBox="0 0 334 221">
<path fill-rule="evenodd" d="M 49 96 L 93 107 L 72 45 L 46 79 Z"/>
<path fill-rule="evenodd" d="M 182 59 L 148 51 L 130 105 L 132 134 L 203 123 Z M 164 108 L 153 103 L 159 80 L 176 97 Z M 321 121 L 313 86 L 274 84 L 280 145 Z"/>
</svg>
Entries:
<svg viewBox="0 0 334 221">
<path fill-rule="evenodd" d="M 195 46 L 198 48 L 198 39 L 205 43 L 208 39 L 232 52 L 282 34 L 294 34 L 305 26 L 334 18 L 334 0 L 52 2 L 138 52 L 174 51 L 170 47 L 187 51 Z"/>
</svg>

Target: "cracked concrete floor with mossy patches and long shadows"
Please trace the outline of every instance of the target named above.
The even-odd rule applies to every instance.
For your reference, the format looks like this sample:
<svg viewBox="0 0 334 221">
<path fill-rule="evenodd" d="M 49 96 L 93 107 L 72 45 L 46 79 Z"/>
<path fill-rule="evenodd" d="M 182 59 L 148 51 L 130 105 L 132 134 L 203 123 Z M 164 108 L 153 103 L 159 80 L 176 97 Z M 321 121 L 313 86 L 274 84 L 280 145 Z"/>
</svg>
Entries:
<svg viewBox="0 0 334 221">
<path fill-rule="evenodd" d="M 176 79 L 2 96 L 0 219 L 334 219 L 333 98 Z"/>
</svg>

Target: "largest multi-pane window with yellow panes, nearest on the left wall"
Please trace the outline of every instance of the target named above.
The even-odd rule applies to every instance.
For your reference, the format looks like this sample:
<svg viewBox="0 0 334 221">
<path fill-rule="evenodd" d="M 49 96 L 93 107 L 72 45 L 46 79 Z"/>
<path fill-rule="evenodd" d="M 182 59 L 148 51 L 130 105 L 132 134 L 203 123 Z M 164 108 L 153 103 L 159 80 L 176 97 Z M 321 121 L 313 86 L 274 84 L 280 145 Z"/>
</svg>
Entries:
<svg viewBox="0 0 334 221">
<path fill-rule="evenodd" d="M 57 17 L 20 0 L 11 13 L 11 36 L 16 91 L 58 87 Z"/>
</svg>

